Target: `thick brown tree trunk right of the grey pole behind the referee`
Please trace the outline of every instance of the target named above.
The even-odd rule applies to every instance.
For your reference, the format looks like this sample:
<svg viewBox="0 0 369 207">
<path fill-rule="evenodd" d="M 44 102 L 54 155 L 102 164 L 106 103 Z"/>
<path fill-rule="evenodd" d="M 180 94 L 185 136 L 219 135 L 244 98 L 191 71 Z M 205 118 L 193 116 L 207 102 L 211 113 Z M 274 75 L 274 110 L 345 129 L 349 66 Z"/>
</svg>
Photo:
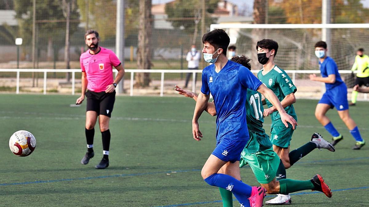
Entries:
<svg viewBox="0 0 369 207">
<path fill-rule="evenodd" d="M 137 68 L 151 69 L 151 0 L 139 0 L 139 29 Z M 139 87 L 146 87 L 150 83 L 149 73 L 137 73 L 135 80 Z"/>
</svg>

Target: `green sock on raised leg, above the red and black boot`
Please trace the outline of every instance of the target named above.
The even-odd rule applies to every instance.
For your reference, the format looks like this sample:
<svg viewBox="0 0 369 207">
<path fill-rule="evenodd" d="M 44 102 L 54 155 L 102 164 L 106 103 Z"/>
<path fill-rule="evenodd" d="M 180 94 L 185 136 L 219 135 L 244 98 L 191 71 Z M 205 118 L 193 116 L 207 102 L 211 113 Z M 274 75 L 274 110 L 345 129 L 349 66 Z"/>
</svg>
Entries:
<svg viewBox="0 0 369 207">
<path fill-rule="evenodd" d="M 297 192 L 300 190 L 313 190 L 314 185 L 310 180 L 291 180 L 291 179 L 282 179 L 279 180 L 279 194 L 288 194 Z"/>
</svg>

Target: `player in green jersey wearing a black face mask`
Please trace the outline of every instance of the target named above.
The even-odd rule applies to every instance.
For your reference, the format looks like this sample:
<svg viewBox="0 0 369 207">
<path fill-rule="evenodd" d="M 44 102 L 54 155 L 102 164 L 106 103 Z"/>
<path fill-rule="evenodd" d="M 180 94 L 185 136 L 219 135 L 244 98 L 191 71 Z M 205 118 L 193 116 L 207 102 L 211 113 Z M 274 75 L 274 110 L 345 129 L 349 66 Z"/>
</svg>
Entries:
<svg viewBox="0 0 369 207">
<path fill-rule="evenodd" d="M 256 45 L 256 50 L 258 52 L 258 61 L 263 65 L 263 69 L 259 71 L 259 80 L 266 85 L 270 90 L 272 90 L 286 112 L 297 120 L 296 112 L 293 108 L 293 103 L 296 102 L 294 93 L 297 91 L 296 86 L 292 83 L 291 78 L 287 73 L 280 69 L 274 63 L 274 58 L 277 54 L 278 43 L 271 39 L 263 39 L 259 41 Z M 300 148 L 290 152 L 290 141 L 292 139 L 292 134 L 294 129 L 291 125 L 285 127 L 282 124 L 279 113 L 275 110 L 275 107 L 268 101 L 265 100 L 269 108 L 265 109 L 263 116 L 271 116 L 272 126 L 270 140 L 273 143 L 273 150 L 278 154 L 285 169 L 290 168 L 299 159 L 313 151 L 315 148 L 327 148 L 330 151 L 335 151 L 333 145 L 324 140 L 324 143 L 317 146 L 313 142 L 308 142 L 301 146 Z M 314 139 L 311 138 L 311 140 Z M 321 136 L 317 137 L 316 140 L 321 140 Z M 277 171 L 277 180 L 285 179 L 285 170 Z M 272 200 L 266 201 L 266 204 L 283 204 L 290 202 L 289 194 L 278 194 L 278 196 Z"/>
</svg>

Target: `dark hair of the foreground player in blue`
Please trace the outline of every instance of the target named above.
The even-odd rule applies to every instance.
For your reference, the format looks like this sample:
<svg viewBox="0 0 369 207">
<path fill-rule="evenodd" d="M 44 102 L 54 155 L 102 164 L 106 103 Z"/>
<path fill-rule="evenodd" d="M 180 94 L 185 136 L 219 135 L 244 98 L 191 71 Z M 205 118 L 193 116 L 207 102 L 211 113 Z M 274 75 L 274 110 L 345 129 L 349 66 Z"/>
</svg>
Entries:
<svg viewBox="0 0 369 207">
<path fill-rule="evenodd" d="M 215 50 L 223 49 L 223 54 L 227 55 L 227 47 L 230 44 L 230 37 L 224 29 L 214 29 L 203 35 L 203 43 L 209 43 Z"/>
</svg>

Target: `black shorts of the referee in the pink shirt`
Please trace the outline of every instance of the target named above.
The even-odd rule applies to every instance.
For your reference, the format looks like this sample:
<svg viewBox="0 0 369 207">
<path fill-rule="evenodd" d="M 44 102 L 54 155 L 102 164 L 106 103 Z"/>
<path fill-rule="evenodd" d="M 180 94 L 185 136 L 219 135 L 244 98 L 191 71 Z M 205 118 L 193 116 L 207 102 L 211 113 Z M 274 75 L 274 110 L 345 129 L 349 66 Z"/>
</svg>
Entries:
<svg viewBox="0 0 369 207">
<path fill-rule="evenodd" d="M 115 102 L 115 91 L 112 93 L 87 91 L 86 111 L 96 111 L 98 115 L 111 117 Z"/>
</svg>

